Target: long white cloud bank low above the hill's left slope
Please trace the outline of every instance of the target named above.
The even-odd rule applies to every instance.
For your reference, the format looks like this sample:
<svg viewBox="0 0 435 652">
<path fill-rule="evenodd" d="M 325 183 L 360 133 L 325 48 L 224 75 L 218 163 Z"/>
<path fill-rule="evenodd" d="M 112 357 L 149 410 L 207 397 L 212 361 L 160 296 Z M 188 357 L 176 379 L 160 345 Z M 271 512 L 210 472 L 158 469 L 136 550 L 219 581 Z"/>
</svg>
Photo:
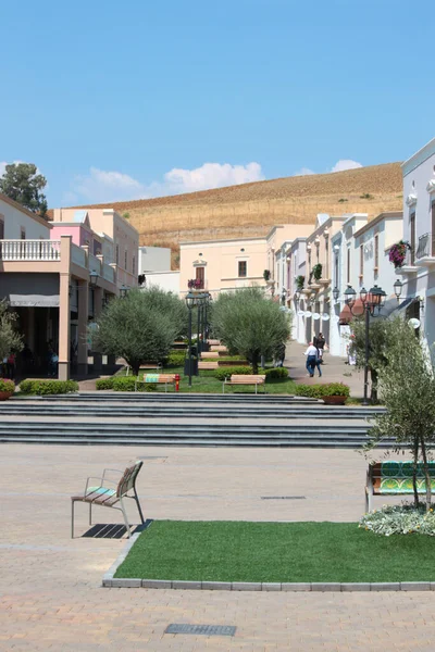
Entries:
<svg viewBox="0 0 435 652">
<path fill-rule="evenodd" d="M 102 203 L 134 199 L 148 199 L 197 192 L 223 186 L 261 181 L 264 175 L 259 163 L 231 165 L 229 163 L 204 163 L 195 170 L 174 167 L 163 175 L 162 181 L 145 185 L 127 174 L 107 172 L 91 167 L 89 174 L 76 176 L 71 189 L 64 193 L 65 203 Z"/>
</svg>

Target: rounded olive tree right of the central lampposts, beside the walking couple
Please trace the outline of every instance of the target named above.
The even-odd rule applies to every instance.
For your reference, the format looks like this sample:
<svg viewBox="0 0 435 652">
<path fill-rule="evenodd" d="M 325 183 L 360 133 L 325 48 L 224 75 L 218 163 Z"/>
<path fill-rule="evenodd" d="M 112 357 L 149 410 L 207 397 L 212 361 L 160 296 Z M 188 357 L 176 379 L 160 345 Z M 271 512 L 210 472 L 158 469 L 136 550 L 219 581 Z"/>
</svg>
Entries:
<svg viewBox="0 0 435 652">
<path fill-rule="evenodd" d="M 261 355 L 272 356 L 290 334 L 289 315 L 258 287 L 221 293 L 213 304 L 211 324 L 231 353 L 246 356 L 254 374 Z"/>
</svg>

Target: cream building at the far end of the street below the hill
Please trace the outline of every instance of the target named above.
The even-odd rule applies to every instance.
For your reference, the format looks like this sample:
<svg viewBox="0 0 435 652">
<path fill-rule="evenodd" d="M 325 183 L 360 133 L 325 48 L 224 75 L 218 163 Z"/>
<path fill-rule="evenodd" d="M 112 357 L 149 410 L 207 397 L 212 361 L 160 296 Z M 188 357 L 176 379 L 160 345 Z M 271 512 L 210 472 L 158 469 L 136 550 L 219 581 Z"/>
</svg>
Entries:
<svg viewBox="0 0 435 652">
<path fill-rule="evenodd" d="M 265 238 L 235 238 L 182 242 L 179 246 L 179 293 L 190 280 L 212 296 L 251 285 L 265 287 Z"/>
</svg>

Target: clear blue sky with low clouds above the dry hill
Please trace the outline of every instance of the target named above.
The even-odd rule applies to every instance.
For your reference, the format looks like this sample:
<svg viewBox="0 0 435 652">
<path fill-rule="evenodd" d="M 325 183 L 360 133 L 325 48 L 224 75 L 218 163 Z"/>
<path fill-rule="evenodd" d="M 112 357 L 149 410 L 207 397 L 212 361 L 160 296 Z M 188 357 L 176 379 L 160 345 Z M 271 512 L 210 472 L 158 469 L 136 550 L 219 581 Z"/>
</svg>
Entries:
<svg viewBox="0 0 435 652">
<path fill-rule="evenodd" d="M 399 161 L 435 135 L 426 0 L 22 0 L 1 14 L 0 165 L 36 163 L 51 206 Z"/>
</svg>

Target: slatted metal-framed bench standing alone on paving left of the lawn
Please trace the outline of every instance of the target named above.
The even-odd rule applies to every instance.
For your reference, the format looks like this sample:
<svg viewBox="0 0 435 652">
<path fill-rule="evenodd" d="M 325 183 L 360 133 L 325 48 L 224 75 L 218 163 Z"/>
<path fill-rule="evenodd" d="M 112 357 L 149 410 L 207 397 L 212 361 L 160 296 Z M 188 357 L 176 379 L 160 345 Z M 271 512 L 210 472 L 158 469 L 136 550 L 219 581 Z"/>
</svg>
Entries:
<svg viewBox="0 0 435 652">
<path fill-rule="evenodd" d="M 124 500 L 132 498 L 137 505 L 140 521 L 144 524 L 144 514 L 140 509 L 139 497 L 136 491 L 136 478 L 142 467 L 144 462 L 136 462 L 133 466 L 122 472 L 116 468 L 104 468 L 101 478 L 89 477 L 86 480 L 85 491 L 78 496 L 71 497 L 71 537 L 74 539 L 74 505 L 76 502 L 89 504 L 89 525 L 92 525 L 92 505 L 100 507 L 111 507 L 120 510 L 124 516 L 125 527 L 127 528 L 128 537 L 130 537 L 130 526 L 128 523 L 127 512 L 125 510 Z M 121 479 L 111 480 L 108 475 L 112 473 L 121 474 Z M 90 486 L 90 480 L 98 479 L 98 485 Z M 114 486 L 114 487 L 113 487 Z"/>
</svg>

